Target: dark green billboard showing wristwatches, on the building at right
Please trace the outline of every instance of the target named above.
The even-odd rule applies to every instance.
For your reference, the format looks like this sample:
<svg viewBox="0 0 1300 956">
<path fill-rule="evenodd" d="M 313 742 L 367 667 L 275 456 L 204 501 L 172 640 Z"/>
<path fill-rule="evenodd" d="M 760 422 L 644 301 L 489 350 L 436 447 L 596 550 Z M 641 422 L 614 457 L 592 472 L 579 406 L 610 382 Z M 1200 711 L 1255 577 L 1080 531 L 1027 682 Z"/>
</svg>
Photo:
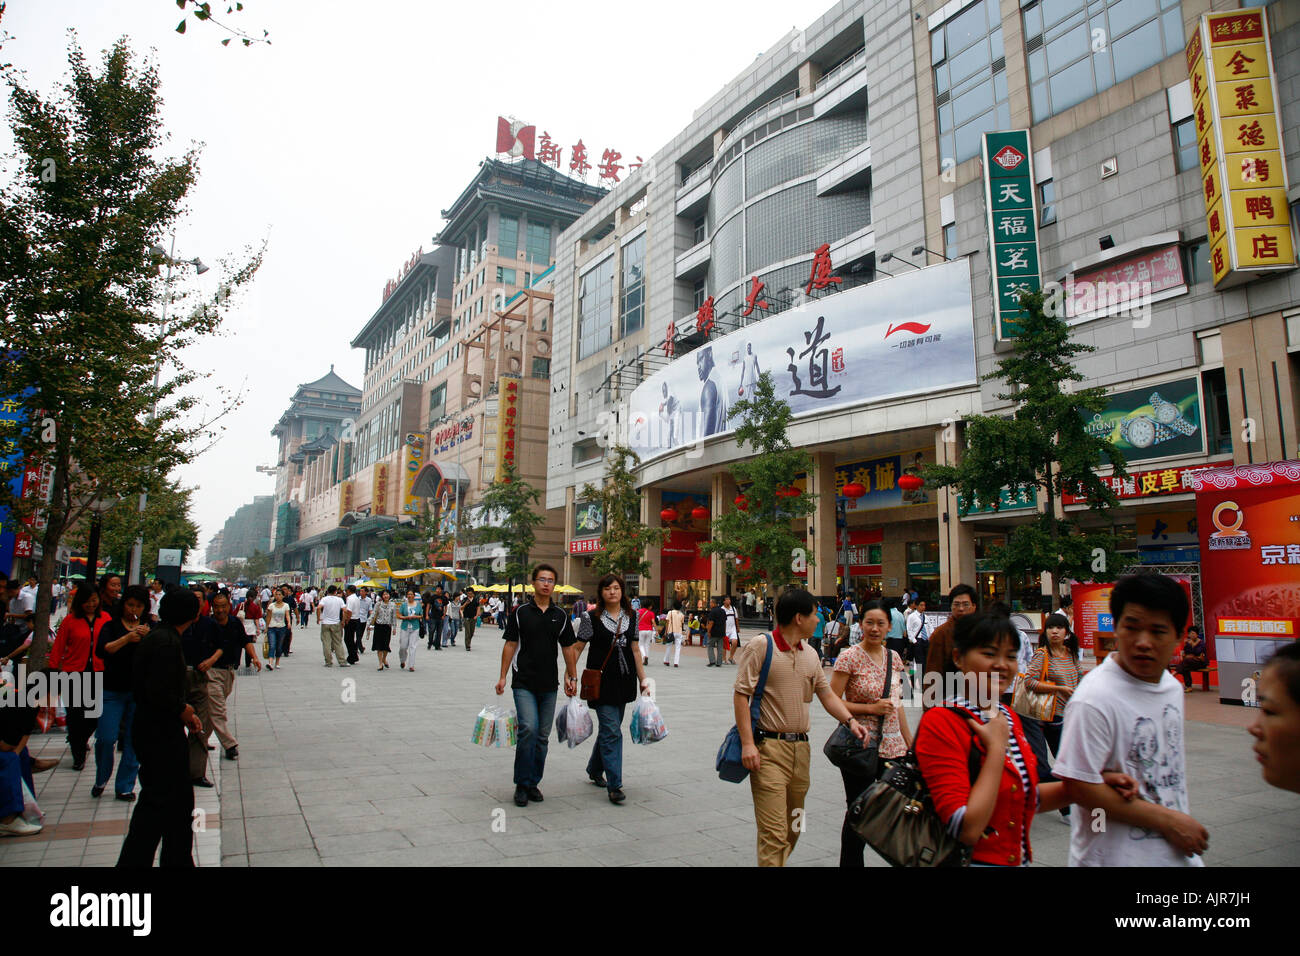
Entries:
<svg viewBox="0 0 1300 956">
<path fill-rule="evenodd" d="M 1088 434 L 1109 438 L 1128 464 L 1205 454 L 1200 378 L 1126 389 L 1100 412 L 1083 412 Z"/>
</svg>

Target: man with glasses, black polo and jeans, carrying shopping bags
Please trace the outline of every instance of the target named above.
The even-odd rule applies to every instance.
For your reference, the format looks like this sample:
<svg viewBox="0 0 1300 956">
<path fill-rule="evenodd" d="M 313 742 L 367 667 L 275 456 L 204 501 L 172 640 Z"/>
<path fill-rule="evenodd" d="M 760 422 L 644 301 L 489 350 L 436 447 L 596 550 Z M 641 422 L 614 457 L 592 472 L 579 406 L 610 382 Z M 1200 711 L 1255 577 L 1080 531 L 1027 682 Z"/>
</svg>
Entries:
<svg viewBox="0 0 1300 956">
<path fill-rule="evenodd" d="M 533 597 L 515 607 L 506 619 L 506 646 L 500 652 L 497 693 L 506 692 L 506 674 L 514 669 L 511 687 L 519 721 L 515 747 L 515 805 L 542 803 L 537 786 L 546 770 L 546 744 L 555 722 L 555 653 L 564 654 L 564 693 L 577 693 L 577 635 L 563 607 L 551 602 L 559 574 L 550 564 L 533 568 Z"/>
</svg>

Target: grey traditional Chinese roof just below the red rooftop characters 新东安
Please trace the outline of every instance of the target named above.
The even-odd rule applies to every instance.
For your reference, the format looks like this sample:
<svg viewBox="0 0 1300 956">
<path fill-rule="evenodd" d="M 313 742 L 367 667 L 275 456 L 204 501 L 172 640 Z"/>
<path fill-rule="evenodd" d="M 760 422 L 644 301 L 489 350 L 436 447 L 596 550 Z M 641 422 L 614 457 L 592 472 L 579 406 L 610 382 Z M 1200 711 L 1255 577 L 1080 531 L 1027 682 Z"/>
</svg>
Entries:
<svg viewBox="0 0 1300 956">
<path fill-rule="evenodd" d="M 589 186 L 537 160 L 502 163 L 486 159 L 478 173 L 442 216 L 447 225 L 434 242 L 456 245 L 486 203 L 538 209 L 568 226 L 601 196 L 603 186 Z"/>
</svg>

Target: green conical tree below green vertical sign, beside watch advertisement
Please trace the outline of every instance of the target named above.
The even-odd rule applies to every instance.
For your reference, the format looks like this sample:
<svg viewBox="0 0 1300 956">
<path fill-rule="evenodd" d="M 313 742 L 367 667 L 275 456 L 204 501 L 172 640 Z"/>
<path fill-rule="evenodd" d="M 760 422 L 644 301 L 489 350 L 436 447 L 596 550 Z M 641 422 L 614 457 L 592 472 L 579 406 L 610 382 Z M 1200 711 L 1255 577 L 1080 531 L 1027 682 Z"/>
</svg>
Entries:
<svg viewBox="0 0 1300 956">
<path fill-rule="evenodd" d="M 1006 385 L 998 398 L 1015 402 L 1015 411 L 1006 418 L 972 415 L 961 464 L 928 466 L 924 477 L 936 488 L 956 486 L 962 514 L 975 502 L 997 507 L 1004 489 L 1034 489 L 1045 497 L 1039 515 L 1017 525 L 1006 546 L 991 549 L 988 558 L 1009 575 L 1049 572 L 1056 594 L 1065 578 L 1106 580 L 1128 566 L 1114 535 L 1086 528 L 1070 515 L 1056 516 L 1063 494 L 1082 493 L 1091 511 L 1105 519 L 1118 501 L 1093 470 L 1110 464 L 1123 476 L 1124 459 L 1114 444 L 1084 428 L 1083 412 L 1102 411 L 1106 390 L 1075 389 L 1084 377 L 1074 358 L 1096 350 L 1070 341 L 1070 326 L 1054 310 L 1048 313 L 1041 293 L 1026 294 L 1020 303 L 1024 319 L 1014 347 L 984 376 Z"/>
</svg>

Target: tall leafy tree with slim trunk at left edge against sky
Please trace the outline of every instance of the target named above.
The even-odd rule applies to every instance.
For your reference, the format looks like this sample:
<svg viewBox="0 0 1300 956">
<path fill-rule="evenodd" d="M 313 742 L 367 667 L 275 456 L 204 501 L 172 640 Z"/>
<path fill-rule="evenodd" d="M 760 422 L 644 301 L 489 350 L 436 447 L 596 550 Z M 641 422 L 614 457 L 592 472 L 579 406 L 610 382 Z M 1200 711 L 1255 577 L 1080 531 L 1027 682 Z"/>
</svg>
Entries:
<svg viewBox="0 0 1300 956">
<path fill-rule="evenodd" d="M 190 392 L 202 376 L 182 352 L 217 330 L 222 306 L 261 261 L 257 252 L 222 264 L 214 300 L 199 300 L 185 278 L 165 286 L 164 259 L 150 248 L 185 211 L 196 150 L 162 153 L 157 68 L 138 68 L 125 40 L 98 73 L 75 43 L 69 64 L 69 81 L 49 100 L 10 74 L 17 150 L 0 190 L 0 356 L 8 359 L 0 362 L 0 395 L 25 397 L 29 412 L 25 423 L 0 421 L 0 442 L 53 468 L 42 506 L 36 665 L 46 657 L 47 598 L 68 531 L 96 497 L 134 498 L 212 437 L 212 424 L 195 420 L 199 401 Z M 165 329 L 164 294 L 178 306 Z M 168 372 L 157 386 L 156 368 Z M 0 507 L 21 516 L 35 502 L 16 501 L 5 483 Z"/>
</svg>

